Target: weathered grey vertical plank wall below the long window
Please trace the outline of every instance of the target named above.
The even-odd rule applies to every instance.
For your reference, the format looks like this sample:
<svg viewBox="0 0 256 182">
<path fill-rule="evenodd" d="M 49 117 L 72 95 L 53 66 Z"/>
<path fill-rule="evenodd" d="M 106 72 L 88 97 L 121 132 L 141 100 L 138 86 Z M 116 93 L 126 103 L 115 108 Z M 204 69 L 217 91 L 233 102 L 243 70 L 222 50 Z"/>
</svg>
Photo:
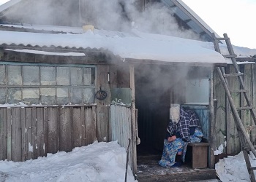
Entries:
<svg viewBox="0 0 256 182">
<path fill-rule="evenodd" d="M 97 141 L 97 135 L 102 141 L 109 111 L 99 111 L 97 106 L 0 108 L 0 160 L 20 162 L 72 151 Z"/>
</svg>

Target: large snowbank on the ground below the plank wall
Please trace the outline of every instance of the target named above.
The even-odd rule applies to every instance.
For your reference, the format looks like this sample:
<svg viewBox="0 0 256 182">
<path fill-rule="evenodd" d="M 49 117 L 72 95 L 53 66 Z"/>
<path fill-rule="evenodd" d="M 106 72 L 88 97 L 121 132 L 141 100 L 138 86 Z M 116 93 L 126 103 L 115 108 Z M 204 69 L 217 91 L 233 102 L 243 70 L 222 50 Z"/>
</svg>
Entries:
<svg viewBox="0 0 256 182">
<path fill-rule="evenodd" d="M 123 182 L 126 157 L 126 149 L 116 141 L 95 142 L 69 153 L 59 151 L 26 162 L 0 161 L 0 181 Z M 135 181 L 131 170 L 128 170 L 127 181 Z"/>
</svg>

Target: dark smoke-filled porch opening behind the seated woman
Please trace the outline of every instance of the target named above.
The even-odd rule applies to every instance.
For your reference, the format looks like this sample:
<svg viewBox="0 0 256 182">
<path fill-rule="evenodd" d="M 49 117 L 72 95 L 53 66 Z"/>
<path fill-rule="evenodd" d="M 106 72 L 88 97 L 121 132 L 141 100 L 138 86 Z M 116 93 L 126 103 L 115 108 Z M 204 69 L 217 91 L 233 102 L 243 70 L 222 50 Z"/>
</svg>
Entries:
<svg viewBox="0 0 256 182">
<path fill-rule="evenodd" d="M 135 67 L 138 108 L 138 156 L 162 154 L 171 103 L 203 103 L 209 99 L 210 67 L 146 65 Z M 208 121 L 203 121 L 208 126 Z M 208 130 L 206 131 L 208 136 Z"/>
</svg>

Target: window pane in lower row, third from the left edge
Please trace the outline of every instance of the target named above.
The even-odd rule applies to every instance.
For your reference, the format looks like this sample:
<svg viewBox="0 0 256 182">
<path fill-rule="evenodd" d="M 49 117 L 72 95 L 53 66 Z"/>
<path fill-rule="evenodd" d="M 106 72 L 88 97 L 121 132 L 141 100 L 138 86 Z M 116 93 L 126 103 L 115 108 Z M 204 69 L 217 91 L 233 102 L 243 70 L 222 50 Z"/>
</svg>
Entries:
<svg viewBox="0 0 256 182">
<path fill-rule="evenodd" d="M 39 89 L 23 89 L 23 103 L 39 104 Z"/>
</svg>

